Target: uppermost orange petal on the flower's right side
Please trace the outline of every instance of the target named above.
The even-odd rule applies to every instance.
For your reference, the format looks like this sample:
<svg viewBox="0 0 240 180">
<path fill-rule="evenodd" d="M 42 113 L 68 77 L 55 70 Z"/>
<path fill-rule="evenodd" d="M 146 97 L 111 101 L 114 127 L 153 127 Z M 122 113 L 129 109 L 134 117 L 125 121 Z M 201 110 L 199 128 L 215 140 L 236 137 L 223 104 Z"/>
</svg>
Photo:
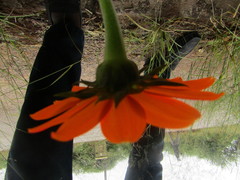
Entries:
<svg viewBox="0 0 240 180">
<path fill-rule="evenodd" d="M 174 78 L 174 79 L 168 79 L 168 80 L 172 82 L 185 84 L 189 88 L 196 89 L 196 90 L 206 89 L 211 85 L 213 85 L 213 83 L 215 82 L 215 78 L 213 77 L 207 77 L 207 78 L 189 80 L 189 81 L 183 81 L 181 78 Z"/>
</svg>

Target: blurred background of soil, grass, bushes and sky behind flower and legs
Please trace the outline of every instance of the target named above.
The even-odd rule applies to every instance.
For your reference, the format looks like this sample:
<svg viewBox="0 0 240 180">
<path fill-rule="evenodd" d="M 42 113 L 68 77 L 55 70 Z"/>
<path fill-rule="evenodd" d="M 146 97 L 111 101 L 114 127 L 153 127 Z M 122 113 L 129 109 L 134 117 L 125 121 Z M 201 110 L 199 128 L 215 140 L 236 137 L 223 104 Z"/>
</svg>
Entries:
<svg viewBox="0 0 240 180">
<path fill-rule="evenodd" d="M 83 0 L 84 80 L 93 81 L 103 60 L 104 29 L 97 0 Z M 129 59 L 172 51 L 185 32 L 201 35 L 198 46 L 173 71 L 184 80 L 213 76 L 214 102 L 191 102 L 202 112 L 192 127 L 167 130 L 163 179 L 240 178 L 240 1 L 114 0 Z M 43 0 L 0 0 L 0 179 L 43 34 L 49 28 Z M 75 179 L 124 178 L 130 144 L 111 144 L 97 126 L 75 139 Z"/>
</svg>

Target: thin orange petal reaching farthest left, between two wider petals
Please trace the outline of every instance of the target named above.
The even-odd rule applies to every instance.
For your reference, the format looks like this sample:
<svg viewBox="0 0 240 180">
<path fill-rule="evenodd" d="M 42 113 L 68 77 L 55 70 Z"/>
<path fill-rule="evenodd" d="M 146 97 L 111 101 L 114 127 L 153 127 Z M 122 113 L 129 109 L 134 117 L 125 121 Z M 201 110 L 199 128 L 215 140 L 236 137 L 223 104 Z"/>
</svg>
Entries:
<svg viewBox="0 0 240 180">
<path fill-rule="evenodd" d="M 51 119 L 51 120 L 47 121 L 46 123 L 43 123 L 37 127 L 28 129 L 28 132 L 29 133 L 38 133 L 38 132 L 44 131 L 50 127 L 62 124 L 63 122 L 68 121 L 70 118 L 72 118 L 76 114 L 81 113 L 81 111 L 84 108 L 86 108 L 89 104 L 93 103 L 94 101 L 96 101 L 96 98 L 89 98 L 89 99 L 83 100 L 80 103 L 78 103 L 77 105 L 75 105 L 74 107 L 72 107 L 70 110 L 61 114 L 60 116 L 58 116 L 54 119 Z"/>
</svg>

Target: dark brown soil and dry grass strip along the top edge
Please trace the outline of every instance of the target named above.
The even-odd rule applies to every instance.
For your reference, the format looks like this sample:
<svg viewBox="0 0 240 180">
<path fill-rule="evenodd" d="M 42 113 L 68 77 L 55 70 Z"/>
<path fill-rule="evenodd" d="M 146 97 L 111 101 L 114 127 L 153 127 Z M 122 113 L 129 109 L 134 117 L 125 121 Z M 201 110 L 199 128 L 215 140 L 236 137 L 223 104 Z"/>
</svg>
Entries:
<svg viewBox="0 0 240 180">
<path fill-rule="evenodd" d="M 82 0 L 83 27 L 86 30 L 102 29 L 102 20 L 97 0 Z M 124 29 L 135 29 L 137 25 L 129 20 L 149 26 L 150 18 L 157 18 L 160 25 L 166 21 L 179 30 L 204 32 L 207 38 L 214 38 L 212 32 L 215 17 L 223 19 L 239 18 L 240 0 L 114 0 L 113 1 Z M 5 24 L 5 30 L 14 40 L 24 44 L 38 44 L 48 28 L 44 0 L 0 0 L 0 13 L 14 24 Z M 230 23 L 230 22 L 229 22 Z M 226 26 L 230 27 L 227 21 Z M 172 26 L 171 26 L 172 27 Z M 221 28 L 221 27 L 218 27 Z M 232 27 L 234 28 L 234 27 Z M 206 32 L 210 31 L 210 32 Z M 1 40 L 1 39 L 0 39 Z M 2 40 L 3 41 L 3 40 Z"/>
</svg>

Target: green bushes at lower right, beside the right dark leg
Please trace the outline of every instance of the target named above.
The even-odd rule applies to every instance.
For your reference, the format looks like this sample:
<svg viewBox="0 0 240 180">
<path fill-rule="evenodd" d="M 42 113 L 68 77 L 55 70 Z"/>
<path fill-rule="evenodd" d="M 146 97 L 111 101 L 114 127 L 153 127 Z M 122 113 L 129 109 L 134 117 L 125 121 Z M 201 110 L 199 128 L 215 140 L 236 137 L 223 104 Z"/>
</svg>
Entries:
<svg viewBox="0 0 240 180">
<path fill-rule="evenodd" d="M 179 151 L 182 155 L 197 156 L 219 166 L 236 162 L 240 157 L 240 125 L 216 127 L 181 132 Z M 165 150 L 174 153 L 168 136 L 165 139 Z"/>
</svg>

